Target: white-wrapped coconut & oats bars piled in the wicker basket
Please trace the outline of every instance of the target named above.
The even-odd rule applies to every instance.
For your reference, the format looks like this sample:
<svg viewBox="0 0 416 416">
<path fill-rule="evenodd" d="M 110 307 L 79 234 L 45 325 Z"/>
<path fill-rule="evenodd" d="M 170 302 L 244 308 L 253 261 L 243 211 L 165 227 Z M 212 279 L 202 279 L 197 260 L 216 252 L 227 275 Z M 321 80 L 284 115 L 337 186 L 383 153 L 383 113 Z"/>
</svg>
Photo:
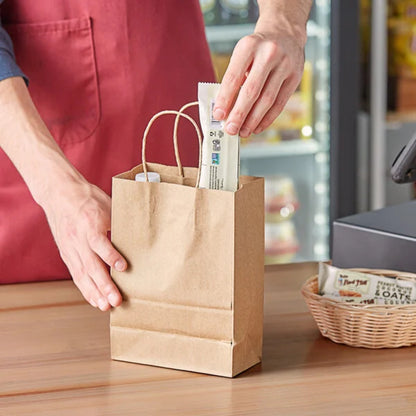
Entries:
<svg viewBox="0 0 416 416">
<path fill-rule="evenodd" d="M 348 303 L 406 305 L 416 303 L 416 282 L 376 276 L 319 264 L 319 293 Z"/>
</svg>

